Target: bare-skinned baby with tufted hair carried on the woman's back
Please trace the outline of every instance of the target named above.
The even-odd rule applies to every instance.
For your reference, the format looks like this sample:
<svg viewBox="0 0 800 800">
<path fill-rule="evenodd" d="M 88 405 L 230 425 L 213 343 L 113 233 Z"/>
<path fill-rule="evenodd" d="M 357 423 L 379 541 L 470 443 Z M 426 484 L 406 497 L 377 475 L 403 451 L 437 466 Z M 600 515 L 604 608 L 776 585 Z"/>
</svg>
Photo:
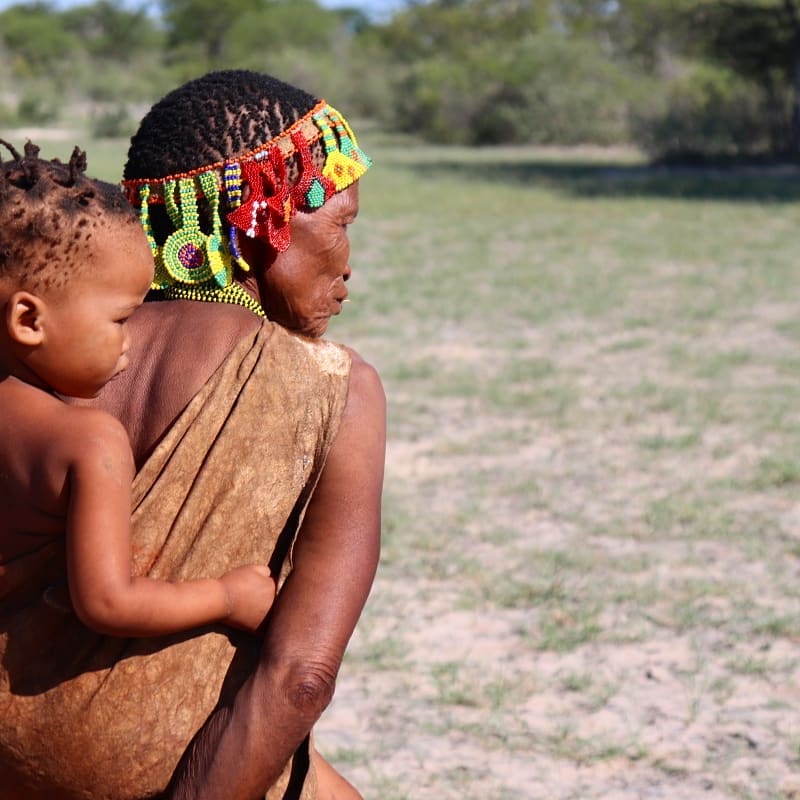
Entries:
<svg viewBox="0 0 800 800">
<path fill-rule="evenodd" d="M 0 598 L 3 564 L 65 535 L 72 606 L 95 630 L 157 636 L 215 622 L 255 631 L 275 597 L 266 566 L 172 583 L 131 575 L 133 456 L 94 397 L 125 369 L 126 320 L 153 278 L 120 190 L 68 164 L 0 158 Z"/>
</svg>

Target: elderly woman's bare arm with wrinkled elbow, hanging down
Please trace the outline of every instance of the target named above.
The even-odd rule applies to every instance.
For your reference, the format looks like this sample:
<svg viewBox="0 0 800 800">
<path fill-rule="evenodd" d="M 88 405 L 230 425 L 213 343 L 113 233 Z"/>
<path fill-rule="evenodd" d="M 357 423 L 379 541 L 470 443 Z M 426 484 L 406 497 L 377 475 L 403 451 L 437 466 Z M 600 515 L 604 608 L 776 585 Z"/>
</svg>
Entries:
<svg viewBox="0 0 800 800">
<path fill-rule="evenodd" d="M 354 355 L 339 432 L 259 663 L 198 734 L 176 772 L 175 800 L 263 797 L 330 702 L 378 564 L 385 448 L 383 387 Z"/>
</svg>

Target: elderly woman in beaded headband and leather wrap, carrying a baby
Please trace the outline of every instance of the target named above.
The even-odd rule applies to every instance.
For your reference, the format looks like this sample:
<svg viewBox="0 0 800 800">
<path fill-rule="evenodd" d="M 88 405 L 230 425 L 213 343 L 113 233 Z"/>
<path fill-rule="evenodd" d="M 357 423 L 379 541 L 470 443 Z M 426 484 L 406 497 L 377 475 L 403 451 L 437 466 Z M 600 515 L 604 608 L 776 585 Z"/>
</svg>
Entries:
<svg viewBox="0 0 800 800">
<path fill-rule="evenodd" d="M 383 390 L 320 338 L 347 297 L 369 165 L 341 114 L 257 73 L 191 81 L 142 121 L 123 183 L 154 302 L 95 401 L 139 467 L 135 569 L 260 561 L 279 592 L 262 638 L 111 639 L 63 602 L 59 544 L 2 565 L 27 587 L 0 608 L 4 800 L 359 797 L 310 734 L 379 552 Z"/>
</svg>

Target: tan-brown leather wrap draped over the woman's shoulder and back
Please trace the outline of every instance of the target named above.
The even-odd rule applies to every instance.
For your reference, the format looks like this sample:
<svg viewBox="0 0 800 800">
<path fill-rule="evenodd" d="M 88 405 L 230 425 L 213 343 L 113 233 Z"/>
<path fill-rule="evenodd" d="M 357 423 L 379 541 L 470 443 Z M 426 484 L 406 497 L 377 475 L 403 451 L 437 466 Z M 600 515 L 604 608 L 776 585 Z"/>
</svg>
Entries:
<svg viewBox="0 0 800 800">
<path fill-rule="evenodd" d="M 285 578 L 349 370 L 343 348 L 268 322 L 240 342 L 136 477 L 136 574 L 180 580 L 260 562 Z M 247 674 L 255 638 L 221 627 L 160 639 L 95 634 L 63 605 L 61 542 L 2 569 L 0 785 L 15 774 L 31 797 L 87 800 L 163 790 Z M 290 766 L 270 798 L 284 796 Z M 315 783 L 307 775 L 291 796 L 310 800 Z"/>
</svg>

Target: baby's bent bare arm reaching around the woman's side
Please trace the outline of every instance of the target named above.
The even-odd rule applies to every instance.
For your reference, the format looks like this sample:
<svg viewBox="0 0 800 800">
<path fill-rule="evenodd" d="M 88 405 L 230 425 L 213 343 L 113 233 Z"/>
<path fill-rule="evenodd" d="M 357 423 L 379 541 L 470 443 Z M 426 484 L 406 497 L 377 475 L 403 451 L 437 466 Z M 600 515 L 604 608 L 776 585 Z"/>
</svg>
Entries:
<svg viewBox="0 0 800 800">
<path fill-rule="evenodd" d="M 224 622 L 254 631 L 275 598 L 266 566 L 219 579 L 172 583 L 131 575 L 133 456 L 113 417 L 72 409 L 76 455 L 69 467 L 67 574 L 78 617 L 100 633 L 158 636 Z"/>
</svg>

